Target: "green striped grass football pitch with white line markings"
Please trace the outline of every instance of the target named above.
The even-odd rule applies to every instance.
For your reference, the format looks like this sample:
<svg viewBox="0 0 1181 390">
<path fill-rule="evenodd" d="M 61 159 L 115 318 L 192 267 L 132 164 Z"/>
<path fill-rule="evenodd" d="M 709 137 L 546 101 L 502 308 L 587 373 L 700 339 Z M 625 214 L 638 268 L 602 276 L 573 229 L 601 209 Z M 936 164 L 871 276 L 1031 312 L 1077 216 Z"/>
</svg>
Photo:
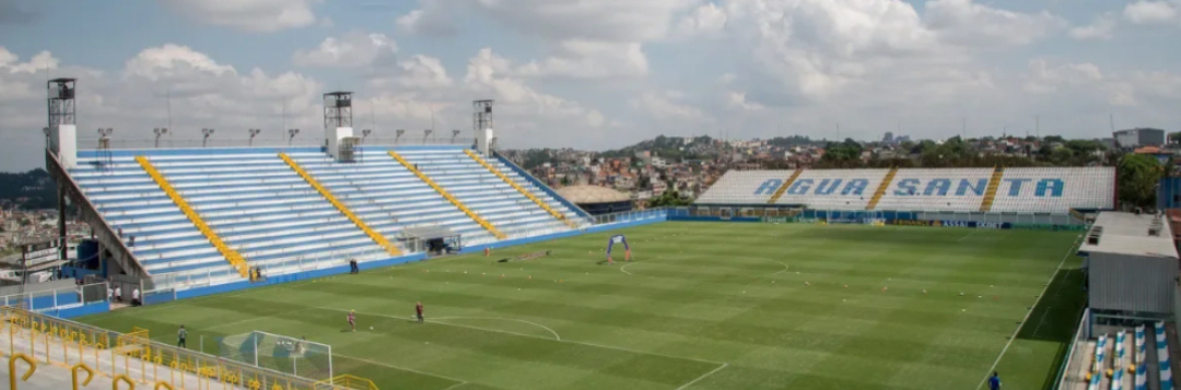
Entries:
<svg viewBox="0 0 1181 390">
<path fill-rule="evenodd" d="M 635 262 L 599 264 L 614 233 Z M 665 223 L 81 320 L 165 343 L 184 324 L 213 353 L 306 336 L 383 389 L 978 389 L 1003 351 L 1005 389 L 1045 389 L 1082 305 L 1077 236 Z"/>
</svg>

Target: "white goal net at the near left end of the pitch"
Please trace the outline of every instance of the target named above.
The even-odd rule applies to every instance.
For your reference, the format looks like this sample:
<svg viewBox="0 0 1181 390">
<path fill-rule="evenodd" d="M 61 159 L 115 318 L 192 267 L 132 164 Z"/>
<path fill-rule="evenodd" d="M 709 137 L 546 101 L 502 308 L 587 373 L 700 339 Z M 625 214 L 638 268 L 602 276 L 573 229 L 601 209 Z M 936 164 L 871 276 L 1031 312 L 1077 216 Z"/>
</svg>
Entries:
<svg viewBox="0 0 1181 390">
<path fill-rule="evenodd" d="M 332 346 L 301 337 L 253 331 L 217 339 L 221 357 L 280 372 L 325 381 L 332 378 Z"/>
</svg>

